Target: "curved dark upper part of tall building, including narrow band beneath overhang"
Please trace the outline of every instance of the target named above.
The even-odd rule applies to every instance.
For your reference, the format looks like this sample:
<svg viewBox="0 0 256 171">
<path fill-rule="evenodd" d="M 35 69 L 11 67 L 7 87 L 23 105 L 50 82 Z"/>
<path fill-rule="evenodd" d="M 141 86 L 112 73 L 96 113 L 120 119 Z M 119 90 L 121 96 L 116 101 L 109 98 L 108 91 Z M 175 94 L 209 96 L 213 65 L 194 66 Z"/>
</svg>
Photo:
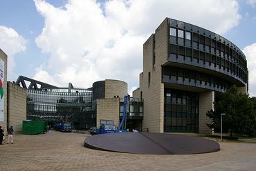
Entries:
<svg viewBox="0 0 256 171">
<path fill-rule="evenodd" d="M 219 92 L 225 91 L 232 84 L 248 86 L 246 57 L 237 46 L 214 32 L 189 23 L 169 19 L 169 26 L 169 64 L 166 65 L 187 70 L 172 72 L 172 67 L 169 70 L 164 68 L 163 72 L 173 73 L 163 74 L 164 83 L 197 85 Z M 196 72 L 189 72 L 191 70 Z M 179 77 L 183 81 L 179 81 Z M 190 83 L 185 83 L 185 79 Z"/>
</svg>

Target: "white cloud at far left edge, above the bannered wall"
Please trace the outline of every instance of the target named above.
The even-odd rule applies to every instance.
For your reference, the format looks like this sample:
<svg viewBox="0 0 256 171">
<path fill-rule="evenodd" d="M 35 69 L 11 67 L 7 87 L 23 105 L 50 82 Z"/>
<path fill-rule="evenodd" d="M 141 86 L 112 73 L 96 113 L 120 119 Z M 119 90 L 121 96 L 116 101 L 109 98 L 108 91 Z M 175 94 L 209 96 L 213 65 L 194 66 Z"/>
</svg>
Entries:
<svg viewBox="0 0 256 171">
<path fill-rule="evenodd" d="M 14 29 L 0 26 L 0 48 L 8 55 L 8 80 L 17 79 L 17 75 L 13 72 L 16 66 L 15 54 L 26 50 L 26 39 Z"/>
</svg>

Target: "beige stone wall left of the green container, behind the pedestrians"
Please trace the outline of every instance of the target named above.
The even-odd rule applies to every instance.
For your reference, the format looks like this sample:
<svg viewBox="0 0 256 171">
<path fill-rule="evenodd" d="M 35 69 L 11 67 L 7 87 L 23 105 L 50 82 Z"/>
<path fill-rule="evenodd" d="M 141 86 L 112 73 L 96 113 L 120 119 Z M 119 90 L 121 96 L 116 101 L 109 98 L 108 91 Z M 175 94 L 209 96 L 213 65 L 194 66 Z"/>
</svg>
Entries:
<svg viewBox="0 0 256 171">
<path fill-rule="evenodd" d="M 22 132 L 22 121 L 26 121 L 26 89 L 8 82 L 9 117 L 16 133 Z"/>
</svg>

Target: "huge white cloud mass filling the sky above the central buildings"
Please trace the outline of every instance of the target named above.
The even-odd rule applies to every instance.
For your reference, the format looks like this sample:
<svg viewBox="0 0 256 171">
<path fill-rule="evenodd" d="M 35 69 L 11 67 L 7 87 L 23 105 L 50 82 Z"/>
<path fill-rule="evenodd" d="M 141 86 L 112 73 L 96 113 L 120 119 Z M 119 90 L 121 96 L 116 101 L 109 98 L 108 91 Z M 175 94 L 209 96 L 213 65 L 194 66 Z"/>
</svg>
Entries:
<svg viewBox="0 0 256 171">
<path fill-rule="evenodd" d="M 143 43 L 165 17 L 219 34 L 237 26 L 241 18 L 234 0 L 70 0 L 61 8 L 35 0 L 35 6 L 45 19 L 35 42 L 42 52 L 51 54 L 44 71 L 60 85 L 72 81 L 84 88 L 100 79 L 137 86 Z"/>
</svg>

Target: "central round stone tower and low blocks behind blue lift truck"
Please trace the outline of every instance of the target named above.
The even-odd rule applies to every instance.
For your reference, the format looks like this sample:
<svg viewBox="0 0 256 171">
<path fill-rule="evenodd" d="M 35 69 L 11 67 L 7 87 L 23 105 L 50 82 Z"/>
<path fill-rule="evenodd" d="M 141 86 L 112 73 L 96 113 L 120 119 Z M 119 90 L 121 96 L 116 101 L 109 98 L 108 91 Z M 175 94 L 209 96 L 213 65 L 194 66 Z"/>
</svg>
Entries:
<svg viewBox="0 0 256 171">
<path fill-rule="evenodd" d="M 124 96 L 127 95 L 127 83 L 124 81 L 106 79 L 93 83 L 93 103 L 96 105 L 97 127 L 100 119 L 113 120 L 120 124 L 124 109 Z M 143 121 L 143 100 L 129 98 L 127 107 L 126 128 L 141 130 Z"/>
</svg>

